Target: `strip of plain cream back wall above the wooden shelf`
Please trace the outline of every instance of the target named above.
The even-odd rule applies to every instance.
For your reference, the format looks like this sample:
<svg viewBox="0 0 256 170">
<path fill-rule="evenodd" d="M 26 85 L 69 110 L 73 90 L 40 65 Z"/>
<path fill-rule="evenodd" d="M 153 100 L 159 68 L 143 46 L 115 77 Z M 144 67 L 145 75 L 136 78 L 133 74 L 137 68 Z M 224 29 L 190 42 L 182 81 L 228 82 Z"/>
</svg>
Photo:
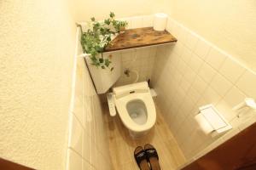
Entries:
<svg viewBox="0 0 256 170">
<path fill-rule="evenodd" d="M 129 17 L 143 14 L 154 14 L 157 12 L 169 12 L 172 5 L 170 0 L 75 0 L 78 20 L 90 20 L 95 16 L 96 20 L 106 18 L 110 11 L 113 11 L 117 17 Z"/>
</svg>

